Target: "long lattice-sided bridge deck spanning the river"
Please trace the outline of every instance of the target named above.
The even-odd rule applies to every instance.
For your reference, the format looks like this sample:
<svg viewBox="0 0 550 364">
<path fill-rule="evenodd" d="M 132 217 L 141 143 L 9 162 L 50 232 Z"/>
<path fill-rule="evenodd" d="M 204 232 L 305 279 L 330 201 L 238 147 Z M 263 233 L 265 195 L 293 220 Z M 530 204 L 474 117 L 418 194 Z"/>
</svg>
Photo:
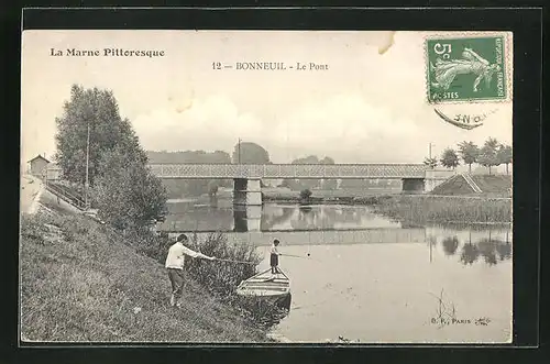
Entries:
<svg viewBox="0 0 550 364">
<path fill-rule="evenodd" d="M 161 178 L 425 178 L 424 164 L 150 164 Z"/>
</svg>

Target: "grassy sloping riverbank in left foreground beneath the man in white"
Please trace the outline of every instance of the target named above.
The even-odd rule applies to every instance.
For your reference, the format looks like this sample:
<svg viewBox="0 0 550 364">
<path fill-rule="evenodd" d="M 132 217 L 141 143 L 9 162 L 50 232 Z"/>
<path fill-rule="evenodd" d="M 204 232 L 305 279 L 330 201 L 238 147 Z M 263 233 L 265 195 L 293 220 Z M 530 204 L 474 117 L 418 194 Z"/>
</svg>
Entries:
<svg viewBox="0 0 550 364">
<path fill-rule="evenodd" d="M 193 278 L 169 307 L 162 264 L 76 214 L 37 212 L 21 228 L 22 338 L 30 341 L 265 342 L 265 332 Z"/>
</svg>

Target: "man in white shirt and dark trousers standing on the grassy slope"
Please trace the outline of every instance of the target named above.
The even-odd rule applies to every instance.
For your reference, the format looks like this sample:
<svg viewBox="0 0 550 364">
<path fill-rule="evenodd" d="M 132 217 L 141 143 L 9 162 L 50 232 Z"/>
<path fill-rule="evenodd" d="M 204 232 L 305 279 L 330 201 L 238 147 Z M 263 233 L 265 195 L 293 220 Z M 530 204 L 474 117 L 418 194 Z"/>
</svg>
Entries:
<svg viewBox="0 0 550 364">
<path fill-rule="evenodd" d="M 184 244 L 187 243 L 188 239 L 185 234 L 177 236 L 176 243 L 168 250 L 168 256 L 166 257 L 165 267 L 168 269 L 168 278 L 172 283 L 172 297 L 170 306 L 180 307 L 179 298 L 184 289 L 184 266 L 185 256 L 189 255 L 191 257 L 200 257 L 209 261 L 216 260 L 213 256 L 208 256 L 202 253 L 191 251 Z"/>
</svg>

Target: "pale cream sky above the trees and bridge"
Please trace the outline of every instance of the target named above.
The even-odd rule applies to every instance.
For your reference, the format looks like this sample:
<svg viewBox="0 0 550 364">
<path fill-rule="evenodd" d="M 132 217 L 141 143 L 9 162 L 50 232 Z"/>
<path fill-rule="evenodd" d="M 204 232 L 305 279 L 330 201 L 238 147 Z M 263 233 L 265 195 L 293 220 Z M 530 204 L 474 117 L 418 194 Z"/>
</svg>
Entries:
<svg viewBox="0 0 550 364">
<path fill-rule="evenodd" d="M 494 112 L 471 131 L 433 112 L 426 101 L 426 35 L 24 31 L 22 163 L 54 154 L 55 118 L 73 84 L 112 90 L 121 115 L 152 151 L 231 153 L 241 139 L 261 144 L 274 163 L 307 155 L 337 163 L 420 163 L 429 143 L 433 155 L 461 141 L 483 144 L 488 136 L 512 144 L 512 102 L 442 107 L 450 114 Z M 52 56 L 52 48 L 152 49 L 165 56 Z M 328 69 L 218 70 L 213 62 L 316 63 Z"/>
</svg>

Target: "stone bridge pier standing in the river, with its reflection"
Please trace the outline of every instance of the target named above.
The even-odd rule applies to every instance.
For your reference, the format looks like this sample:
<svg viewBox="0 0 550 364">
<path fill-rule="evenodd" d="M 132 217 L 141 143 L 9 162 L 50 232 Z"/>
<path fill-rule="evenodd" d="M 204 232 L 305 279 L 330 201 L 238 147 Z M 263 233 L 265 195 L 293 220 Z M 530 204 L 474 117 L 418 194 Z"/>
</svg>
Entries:
<svg viewBox="0 0 550 364">
<path fill-rule="evenodd" d="M 233 179 L 233 217 L 237 231 L 260 231 L 262 221 L 260 181 L 260 178 Z"/>
</svg>

